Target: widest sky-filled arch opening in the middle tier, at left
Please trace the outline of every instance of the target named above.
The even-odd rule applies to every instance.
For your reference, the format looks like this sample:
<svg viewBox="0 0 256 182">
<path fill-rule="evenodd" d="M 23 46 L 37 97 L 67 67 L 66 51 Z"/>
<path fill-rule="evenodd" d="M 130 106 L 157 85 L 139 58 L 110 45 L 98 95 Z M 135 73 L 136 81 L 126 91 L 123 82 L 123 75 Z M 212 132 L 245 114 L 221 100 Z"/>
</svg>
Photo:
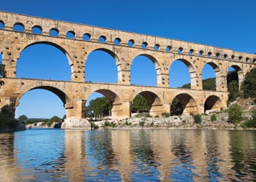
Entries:
<svg viewBox="0 0 256 182">
<path fill-rule="evenodd" d="M 49 42 L 31 44 L 20 54 L 16 76 L 18 78 L 70 81 L 71 68 L 64 53 L 61 47 Z"/>
</svg>

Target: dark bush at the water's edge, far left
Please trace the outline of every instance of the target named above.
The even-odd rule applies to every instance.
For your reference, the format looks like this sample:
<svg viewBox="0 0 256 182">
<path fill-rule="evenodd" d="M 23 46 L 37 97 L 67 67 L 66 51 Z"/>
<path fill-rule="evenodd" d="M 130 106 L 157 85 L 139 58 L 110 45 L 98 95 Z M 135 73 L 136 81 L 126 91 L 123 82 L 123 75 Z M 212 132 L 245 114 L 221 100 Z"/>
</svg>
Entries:
<svg viewBox="0 0 256 182">
<path fill-rule="evenodd" d="M 14 115 L 8 108 L 2 108 L 0 112 L 0 130 L 16 130 L 18 120 L 14 119 Z"/>
</svg>

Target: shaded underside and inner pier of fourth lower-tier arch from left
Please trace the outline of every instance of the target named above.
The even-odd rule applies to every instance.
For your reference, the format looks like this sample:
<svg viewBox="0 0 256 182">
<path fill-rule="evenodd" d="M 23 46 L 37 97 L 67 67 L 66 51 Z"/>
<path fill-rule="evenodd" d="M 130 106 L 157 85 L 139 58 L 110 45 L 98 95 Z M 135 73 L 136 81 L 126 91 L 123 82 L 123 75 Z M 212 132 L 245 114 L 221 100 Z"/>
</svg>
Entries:
<svg viewBox="0 0 256 182">
<path fill-rule="evenodd" d="M 181 107 L 183 109 L 182 114 L 189 115 L 198 113 L 197 103 L 191 95 L 188 95 L 187 93 L 181 93 L 173 98 L 173 100 L 175 99 L 178 99 L 181 103 Z"/>
</svg>

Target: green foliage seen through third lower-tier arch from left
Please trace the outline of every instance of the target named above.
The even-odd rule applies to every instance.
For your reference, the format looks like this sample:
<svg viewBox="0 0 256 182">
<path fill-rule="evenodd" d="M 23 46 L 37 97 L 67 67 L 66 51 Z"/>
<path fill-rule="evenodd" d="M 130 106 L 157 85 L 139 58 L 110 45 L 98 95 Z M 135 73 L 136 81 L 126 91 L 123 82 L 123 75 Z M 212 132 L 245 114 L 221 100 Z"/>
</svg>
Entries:
<svg viewBox="0 0 256 182">
<path fill-rule="evenodd" d="M 148 102 L 142 95 L 136 95 L 132 102 L 132 113 L 148 112 Z"/>
</svg>

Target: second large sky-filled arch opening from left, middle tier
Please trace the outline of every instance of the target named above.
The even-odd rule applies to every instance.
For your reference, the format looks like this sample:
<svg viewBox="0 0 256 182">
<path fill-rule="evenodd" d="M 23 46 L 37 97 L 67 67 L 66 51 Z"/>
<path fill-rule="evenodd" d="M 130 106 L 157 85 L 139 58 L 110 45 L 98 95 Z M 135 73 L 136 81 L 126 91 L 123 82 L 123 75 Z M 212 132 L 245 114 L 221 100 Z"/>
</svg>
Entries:
<svg viewBox="0 0 256 182">
<path fill-rule="evenodd" d="M 94 50 L 86 60 L 86 82 L 117 83 L 116 55 L 110 50 Z"/>
</svg>

